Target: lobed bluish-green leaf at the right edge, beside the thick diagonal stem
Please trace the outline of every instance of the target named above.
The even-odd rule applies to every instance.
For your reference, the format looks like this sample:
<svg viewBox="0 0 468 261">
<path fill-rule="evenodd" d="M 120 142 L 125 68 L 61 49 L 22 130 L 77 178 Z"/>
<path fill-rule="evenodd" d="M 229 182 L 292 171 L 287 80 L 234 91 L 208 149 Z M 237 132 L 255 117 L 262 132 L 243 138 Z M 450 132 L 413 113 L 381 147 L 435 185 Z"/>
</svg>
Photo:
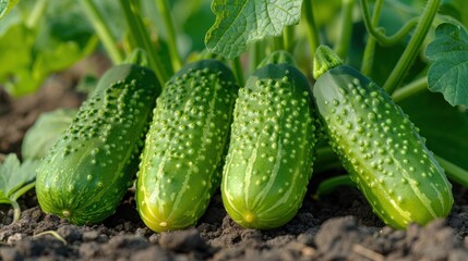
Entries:
<svg viewBox="0 0 468 261">
<path fill-rule="evenodd" d="M 444 95 L 452 105 L 468 104 L 468 35 L 465 29 L 444 23 L 435 29 L 425 55 L 434 61 L 429 69 L 429 89 Z"/>
</svg>

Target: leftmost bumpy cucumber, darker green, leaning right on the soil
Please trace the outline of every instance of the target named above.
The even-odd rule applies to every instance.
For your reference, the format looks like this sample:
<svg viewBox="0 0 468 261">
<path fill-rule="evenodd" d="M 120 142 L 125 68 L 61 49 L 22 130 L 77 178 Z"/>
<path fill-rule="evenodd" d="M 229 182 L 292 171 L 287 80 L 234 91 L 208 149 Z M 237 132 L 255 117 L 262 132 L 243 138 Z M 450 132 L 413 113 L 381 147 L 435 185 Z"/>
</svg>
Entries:
<svg viewBox="0 0 468 261">
<path fill-rule="evenodd" d="M 159 92 L 155 74 L 135 64 L 103 75 L 37 171 L 36 194 L 46 213 L 83 225 L 115 212 L 137 171 Z"/>
</svg>

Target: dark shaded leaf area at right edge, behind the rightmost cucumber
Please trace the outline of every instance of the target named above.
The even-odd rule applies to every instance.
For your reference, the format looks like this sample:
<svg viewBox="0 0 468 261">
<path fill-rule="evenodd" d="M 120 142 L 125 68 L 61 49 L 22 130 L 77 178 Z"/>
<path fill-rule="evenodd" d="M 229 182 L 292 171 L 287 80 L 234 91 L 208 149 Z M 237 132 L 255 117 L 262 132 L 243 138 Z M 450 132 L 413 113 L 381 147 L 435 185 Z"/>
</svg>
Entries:
<svg viewBox="0 0 468 261">
<path fill-rule="evenodd" d="M 427 138 L 428 148 L 468 170 L 468 113 L 451 107 L 441 94 L 425 90 L 399 102 Z M 421 109 L 423 108 L 423 109 Z"/>
</svg>

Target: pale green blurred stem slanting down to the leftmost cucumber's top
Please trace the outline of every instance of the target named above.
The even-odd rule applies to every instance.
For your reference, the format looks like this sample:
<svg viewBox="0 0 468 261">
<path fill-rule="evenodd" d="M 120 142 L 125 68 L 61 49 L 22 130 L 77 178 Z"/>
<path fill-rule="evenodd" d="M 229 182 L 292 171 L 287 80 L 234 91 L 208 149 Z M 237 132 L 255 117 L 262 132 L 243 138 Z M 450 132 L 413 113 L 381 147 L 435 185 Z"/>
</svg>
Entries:
<svg viewBox="0 0 468 261">
<path fill-rule="evenodd" d="M 106 23 L 106 20 L 97 9 L 95 2 L 93 0 L 83 0 L 82 3 L 88 20 L 93 24 L 97 36 L 106 48 L 110 60 L 112 60 L 113 64 L 121 63 L 123 61 L 123 53 L 117 47 L 117 39 L 110 30 L 109 24 Z"/>
</svg>

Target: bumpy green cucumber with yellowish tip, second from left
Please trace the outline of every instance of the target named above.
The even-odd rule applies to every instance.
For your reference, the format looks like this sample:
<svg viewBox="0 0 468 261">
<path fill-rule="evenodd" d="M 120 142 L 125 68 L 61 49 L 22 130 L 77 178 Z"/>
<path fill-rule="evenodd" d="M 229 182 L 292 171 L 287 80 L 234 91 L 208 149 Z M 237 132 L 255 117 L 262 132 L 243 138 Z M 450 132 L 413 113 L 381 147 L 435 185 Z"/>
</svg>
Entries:
<svg viewBox="0 0 468 261">
<path fill-rule="evenodd" d="M 140 164 L 136 203 L 155 232 L 194 225 L 219 187 L 238 86 L 216 60 L 183 66 L 154 110 Z"/>
</svg>

